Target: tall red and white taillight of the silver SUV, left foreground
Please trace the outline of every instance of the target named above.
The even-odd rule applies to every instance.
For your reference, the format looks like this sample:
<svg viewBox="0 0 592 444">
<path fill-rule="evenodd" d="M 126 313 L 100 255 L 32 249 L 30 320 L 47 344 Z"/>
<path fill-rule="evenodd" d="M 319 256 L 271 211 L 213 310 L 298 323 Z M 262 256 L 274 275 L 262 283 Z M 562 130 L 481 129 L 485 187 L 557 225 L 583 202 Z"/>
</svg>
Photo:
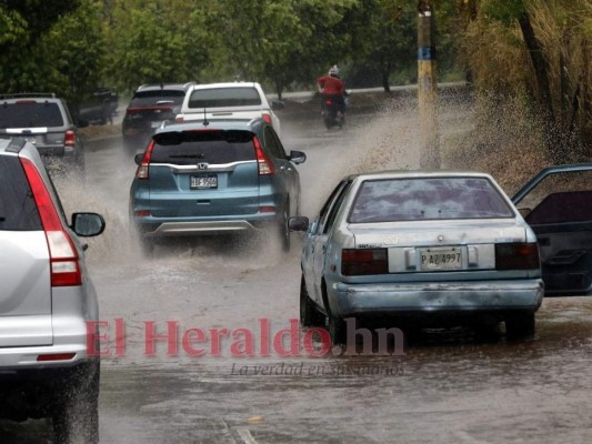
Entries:
<svg viewBox="0 0 592 444">
<path fill-rule="evenodd" d="M 39 216 L 46 231 L 51 264 L 51 286 L 81 285 L 82 273 L 78 252 L 72 239 L 63 230 L 51 194 L 34 164 L 28 159 L 21 159 L 21 164 L 31 185 Z"/>
</svg>

